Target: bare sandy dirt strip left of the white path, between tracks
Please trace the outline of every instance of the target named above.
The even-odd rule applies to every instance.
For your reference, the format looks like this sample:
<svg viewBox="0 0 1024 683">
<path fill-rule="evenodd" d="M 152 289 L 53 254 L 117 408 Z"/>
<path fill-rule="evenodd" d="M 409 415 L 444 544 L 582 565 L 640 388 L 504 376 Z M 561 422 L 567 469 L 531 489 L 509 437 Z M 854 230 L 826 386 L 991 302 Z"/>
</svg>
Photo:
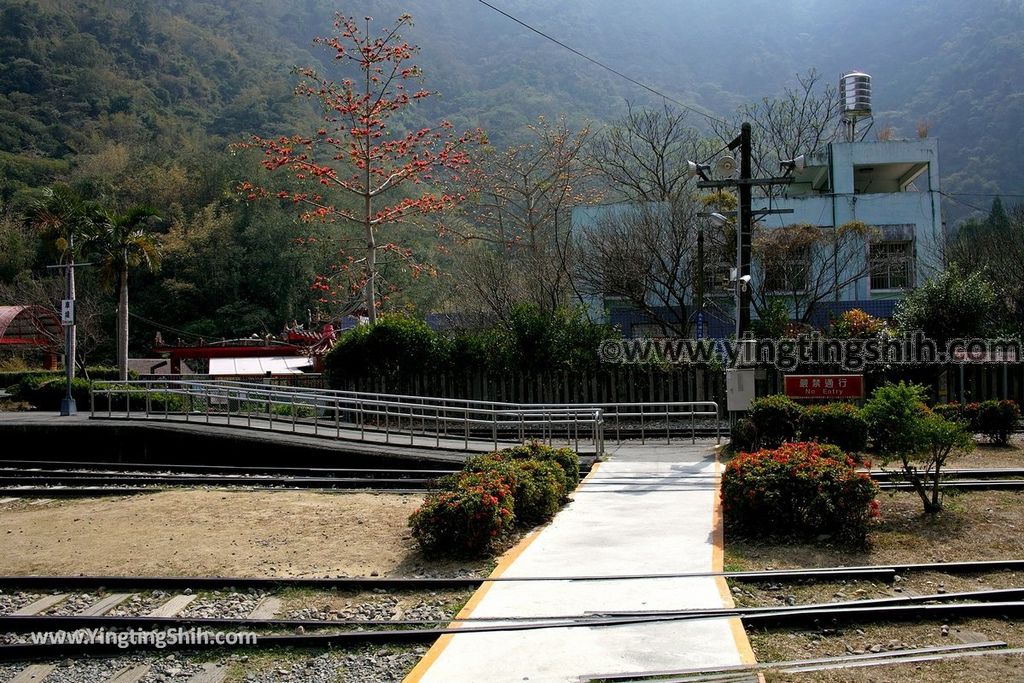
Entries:
<svg viewBox="0 0 1024 683">
<path fill-rule="evenodd" d="M 0 573 L 245 577 L 468 573 L 423 558 L 422 496 L 175 490 L 0 505 Z"/>
</svg>

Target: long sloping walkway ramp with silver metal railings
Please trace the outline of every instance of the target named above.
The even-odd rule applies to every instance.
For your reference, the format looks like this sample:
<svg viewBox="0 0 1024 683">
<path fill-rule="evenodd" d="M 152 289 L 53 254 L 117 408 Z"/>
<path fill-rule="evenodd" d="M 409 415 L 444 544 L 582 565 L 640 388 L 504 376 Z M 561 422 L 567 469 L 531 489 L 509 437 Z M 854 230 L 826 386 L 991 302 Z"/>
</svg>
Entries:
<svg viewBox="0 0 1024 683">
<path fill-rule="evenodd" d="M 358 391 L 256 382 L 148 380 L 97 382 L 93 419 L 186 422 L 321 438 L 486 452 L 539 439 L 581 455 L 602 455 L 605 438 L 668 442 L 714 435 L 714 401 L 537 404 Z"/>
</svg>

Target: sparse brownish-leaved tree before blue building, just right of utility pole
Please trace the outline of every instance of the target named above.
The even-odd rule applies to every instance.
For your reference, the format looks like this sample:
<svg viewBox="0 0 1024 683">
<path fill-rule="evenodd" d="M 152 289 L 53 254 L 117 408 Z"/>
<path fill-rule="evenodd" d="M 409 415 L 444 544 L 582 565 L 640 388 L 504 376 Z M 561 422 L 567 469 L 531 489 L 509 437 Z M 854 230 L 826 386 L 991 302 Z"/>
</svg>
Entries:
<svg viewBox="0 0 1024 683">
<path fill-rule="evenodd" d="M 782 299 L 794 319 L 809 323 L 817 304 L 839 300 L 845 288 L 868 274 L 867 245 L 877 233 L 860 221 L 838 227 L 758 226 L 754 259 L 761 276 L 753 288 L 758 314 Z"/>
</svg>

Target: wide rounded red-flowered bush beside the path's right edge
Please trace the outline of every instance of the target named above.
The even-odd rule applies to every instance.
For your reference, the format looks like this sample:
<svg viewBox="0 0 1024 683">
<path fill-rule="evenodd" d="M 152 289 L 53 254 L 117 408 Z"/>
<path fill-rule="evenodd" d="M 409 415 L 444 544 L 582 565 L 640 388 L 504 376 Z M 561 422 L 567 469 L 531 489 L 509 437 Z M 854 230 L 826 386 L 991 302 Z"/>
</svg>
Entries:
<svg viewBox="0 0 1024 683">
<path fill-rule="evenodd" d="M 800 441 L 744 453 L 722 477 L 726 525 L 750 537 L 821 535 L 863 543 L 878 485 L 835 445 Z"/>
</svg>

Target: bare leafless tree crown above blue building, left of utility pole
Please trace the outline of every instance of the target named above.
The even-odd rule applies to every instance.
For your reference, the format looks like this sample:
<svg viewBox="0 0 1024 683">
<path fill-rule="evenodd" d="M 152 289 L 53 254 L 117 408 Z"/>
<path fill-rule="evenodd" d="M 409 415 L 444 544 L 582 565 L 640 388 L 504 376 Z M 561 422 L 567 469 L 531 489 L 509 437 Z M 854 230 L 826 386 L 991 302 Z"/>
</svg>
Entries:
<svg viewBox="0 0 1024 683">
<path fill-rule="evenodd" d="M 700 132 L 686 125 L 686 112 L 627 103 L 626 116 L 594 141 L 591 164 L 624 199 L 666 202 L 687 191 L 686 162 L 708 153 Z"/>
</svg>

